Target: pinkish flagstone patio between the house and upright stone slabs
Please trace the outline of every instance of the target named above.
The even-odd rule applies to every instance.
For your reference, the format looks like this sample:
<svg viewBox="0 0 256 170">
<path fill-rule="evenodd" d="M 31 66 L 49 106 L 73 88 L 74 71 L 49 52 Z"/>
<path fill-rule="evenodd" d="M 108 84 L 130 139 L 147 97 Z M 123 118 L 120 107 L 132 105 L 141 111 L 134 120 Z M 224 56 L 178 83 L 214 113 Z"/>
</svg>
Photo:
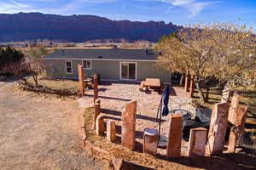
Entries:
<svg viewBox="0 0 256 170">
<path fill-rule="evenodd" d="M 101 113 L 104 115 L 104 121 L 115 121 L 117 125 L 117 143 L 120 143 L 121 134 L 121 111 L 125 104 L 131 100 L 137 100 L 137 151 L 143 150 L 143 131 L 144 128 L 158 129 L 158 119 L 156 119 L 157 110 L 160 104 L 161 94 L 155 91 L 142 92 L 139 90 L 139 84 L 104 82 L 99 85 L 99 99 L 101 99 Z M 195 114 L 195 109 L 189 104 L 190 99 L 183 88 L 172 87 L 169 110 L 182 109 Z M 78 99 L 81 107 L 93 106 L 93 90 L 87 90 L 83 98 Z M 169 114 L 170 115 L 170 114 Z M 167 136 L 169 116 L 162 117 L 161 135 Z M 182 155 L 186 154 L 187 142 L 182 142 Z M 158 149 L 158 153 L 166 155 L 165 149 Z"/>
</svg>

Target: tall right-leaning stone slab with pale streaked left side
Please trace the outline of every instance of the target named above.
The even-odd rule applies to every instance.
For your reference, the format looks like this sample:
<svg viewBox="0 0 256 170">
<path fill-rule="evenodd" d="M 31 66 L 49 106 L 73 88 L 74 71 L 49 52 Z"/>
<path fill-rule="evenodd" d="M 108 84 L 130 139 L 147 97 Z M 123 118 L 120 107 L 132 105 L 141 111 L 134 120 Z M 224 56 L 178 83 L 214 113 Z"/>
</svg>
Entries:
<svg viewBox="0 0 256 170">
<path fill-rule="evenodd" d="M 228 125 L 228 103 L 218 103 L 213 106 L 208 133 L 207 155 L 222 153 Z"/>
</svg>

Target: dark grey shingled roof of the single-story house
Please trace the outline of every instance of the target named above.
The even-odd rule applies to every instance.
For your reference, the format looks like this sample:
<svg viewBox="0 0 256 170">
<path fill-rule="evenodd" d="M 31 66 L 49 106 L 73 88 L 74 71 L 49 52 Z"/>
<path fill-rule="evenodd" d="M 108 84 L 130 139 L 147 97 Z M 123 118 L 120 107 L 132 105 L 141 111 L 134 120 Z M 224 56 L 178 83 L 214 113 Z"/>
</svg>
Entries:
<svg viewBox="0 0 256 170">
<path fill-rule="evenodd" d="M 148 53 L 149 52 L 149 53 Z M 151 52 L 151 53 L 150 53 Z M 93 60 L 147 60 L 155 61 L 156 55 L 146 49 L 100 49 L 72 48 L 57 49 L 46 55 L 44 59 L 93 59 Z"/>
</svg>

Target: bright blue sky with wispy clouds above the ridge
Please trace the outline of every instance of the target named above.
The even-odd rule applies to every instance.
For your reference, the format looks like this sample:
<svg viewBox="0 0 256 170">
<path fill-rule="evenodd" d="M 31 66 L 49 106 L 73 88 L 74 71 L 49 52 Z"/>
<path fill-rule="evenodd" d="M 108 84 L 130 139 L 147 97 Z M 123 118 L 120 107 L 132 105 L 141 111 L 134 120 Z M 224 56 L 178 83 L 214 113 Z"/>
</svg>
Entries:
<svg viewBox="0 0 256 170">
<path fill-rule="evenodd" d="M 0 0 L 0 13 L 95 14 L 177 25 L 235 21 L 256 29 L 256 0 Z M 240 20 L 239 20 L 240 19 Z"/>
</svg>

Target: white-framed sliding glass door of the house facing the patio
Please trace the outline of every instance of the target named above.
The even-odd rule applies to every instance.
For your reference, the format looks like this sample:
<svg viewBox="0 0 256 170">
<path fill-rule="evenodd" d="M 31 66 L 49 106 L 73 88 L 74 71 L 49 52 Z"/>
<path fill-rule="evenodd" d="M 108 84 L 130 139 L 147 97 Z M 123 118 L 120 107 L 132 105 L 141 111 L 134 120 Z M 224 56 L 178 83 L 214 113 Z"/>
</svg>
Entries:
<svg viewBox="0 0 256 170">
<path fill-rule="evenodd" d="M 121 80 L 136 80 L 136 63 L 121 62 Z"/>
</svg>

